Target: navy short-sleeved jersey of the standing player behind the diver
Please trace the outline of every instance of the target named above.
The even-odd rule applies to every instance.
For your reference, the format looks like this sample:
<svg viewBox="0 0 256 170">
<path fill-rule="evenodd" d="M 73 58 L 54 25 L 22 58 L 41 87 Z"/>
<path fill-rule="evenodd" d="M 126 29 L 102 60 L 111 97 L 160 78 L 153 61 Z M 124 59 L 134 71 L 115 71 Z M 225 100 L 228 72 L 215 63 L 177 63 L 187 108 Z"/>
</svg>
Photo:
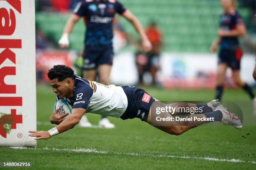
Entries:
<svg viewBox="0 0 256 170">
<path fill-rule="evenodd" d="M 84 0 L 74 9 L 74 14 L 84 17 L 87 26 L 84 43 L 87 46 L 112 45 L 113 18 L 122 15 L 125 7 L 118 0 Z"/>
</svg>

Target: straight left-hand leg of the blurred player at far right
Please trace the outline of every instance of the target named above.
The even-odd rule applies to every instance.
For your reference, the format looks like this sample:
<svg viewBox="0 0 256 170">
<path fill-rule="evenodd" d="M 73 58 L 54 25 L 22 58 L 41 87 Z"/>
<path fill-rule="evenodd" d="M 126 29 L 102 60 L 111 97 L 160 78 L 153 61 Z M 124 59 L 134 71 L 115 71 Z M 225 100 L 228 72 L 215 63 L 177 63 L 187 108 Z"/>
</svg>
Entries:
<svg viewBox="0 0 256 170">
<path fill-rule="evenodd" d="M 215 99 L 221 100 L 221 96 L 223 93 L 223 83 L 225 78 L 225 72 L 227 68 L 228 68 L 228 65 L 225 62 L 221 62 L 218 64 Z"/>
</svg>

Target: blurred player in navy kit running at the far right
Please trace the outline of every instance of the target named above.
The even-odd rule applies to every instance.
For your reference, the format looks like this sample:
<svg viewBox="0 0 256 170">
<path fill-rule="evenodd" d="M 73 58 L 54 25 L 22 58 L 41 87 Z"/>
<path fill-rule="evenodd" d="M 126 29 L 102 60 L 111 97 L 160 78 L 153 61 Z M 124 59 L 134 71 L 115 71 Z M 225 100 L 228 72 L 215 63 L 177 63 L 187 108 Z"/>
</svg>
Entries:
<svg viewBox="0 0 256 170">
<path fill-rule="evenodd" d="M 223 94 L 223 82 L 225 72 L 228 67 L 232 69 L 232 75 L 239 87 L 254 98 L 254 93 L 240 77 L 240 62 L 243 52 L 238 42 L 238 37 L 246 35 L 246 27 L 243 20 L 236 10 L 236 0 L 220 0 L 224 13 L 220 16 L 220 29 L 218 30 L 218 38 L 210 47 L 211 52 L 217 50 L 220 46 L 218 55 L 218 71 L 217 71 L 217 87 L 215 99 L 221 100 Z"/>
</svg>

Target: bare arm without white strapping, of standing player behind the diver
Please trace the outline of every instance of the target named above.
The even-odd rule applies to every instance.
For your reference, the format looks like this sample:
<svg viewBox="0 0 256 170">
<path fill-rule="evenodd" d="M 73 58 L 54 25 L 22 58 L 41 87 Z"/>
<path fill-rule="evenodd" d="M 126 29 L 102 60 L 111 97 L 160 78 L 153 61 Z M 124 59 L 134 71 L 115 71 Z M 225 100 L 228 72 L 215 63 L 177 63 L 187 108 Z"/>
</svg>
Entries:
<svg viewBox="0 0 256 170">
<path fill-rule="evenodd" d="M 146 52 L 151 51 L 152 50 L 151 42 L 148 40 L 148 37 L 147 37 L 141 23 L 136 18 L 136 16 L 134 16 L 130 10 L 126 9 L 125 13 L 123 13 L 123 17 L 126 18 L 133 25 L 133 27 L 136 29 L 136 31 L 140 35 L 141 43 L 142 43 L 141 45 L 142 45 L 143 50 Z"/>
</svg>

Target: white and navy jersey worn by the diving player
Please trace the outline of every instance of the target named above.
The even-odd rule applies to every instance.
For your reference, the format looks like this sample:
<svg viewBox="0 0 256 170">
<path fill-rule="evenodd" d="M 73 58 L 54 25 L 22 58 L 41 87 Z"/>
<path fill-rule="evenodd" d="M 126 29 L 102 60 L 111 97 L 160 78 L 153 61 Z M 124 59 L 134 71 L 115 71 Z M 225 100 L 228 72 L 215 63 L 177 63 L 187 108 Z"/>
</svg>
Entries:
<svg viewBox="0 0 256 170">
<path fill-rule="evenodd" d="M 64 100 L 69 102 L 73 108 L 85 108 L 87 112 L 112 117 L 123 115 L 128 100 L 122 87 L 102 85 L 77 75 L 74 76 L 74 97 L 64 97 Z"/>
</svg>

